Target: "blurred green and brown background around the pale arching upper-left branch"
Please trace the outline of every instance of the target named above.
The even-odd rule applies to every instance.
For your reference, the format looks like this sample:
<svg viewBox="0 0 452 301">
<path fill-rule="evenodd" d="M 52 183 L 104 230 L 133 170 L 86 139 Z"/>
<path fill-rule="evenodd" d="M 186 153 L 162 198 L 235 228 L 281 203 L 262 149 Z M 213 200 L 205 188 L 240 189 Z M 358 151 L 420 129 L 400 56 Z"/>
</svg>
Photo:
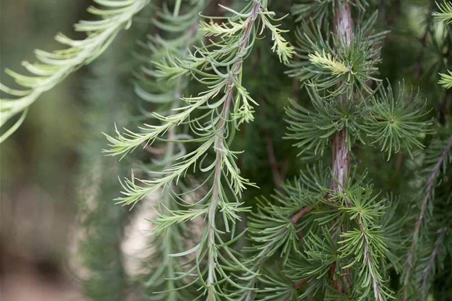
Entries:
<svg viewBox="0 0 452 301">
<path fill-rule="evenodd" d="M 86 13 L 89 0 L 1 0 L 4 68 L 23 71 L 33 49 L 51 51 L 58 31 Z M 65 269 L 75 221 L 73 185 L 81 138 L 82 72 L 46 93 L 19 130 L 1 145 L 1 300 L 82 300 Z"/>
</svg>

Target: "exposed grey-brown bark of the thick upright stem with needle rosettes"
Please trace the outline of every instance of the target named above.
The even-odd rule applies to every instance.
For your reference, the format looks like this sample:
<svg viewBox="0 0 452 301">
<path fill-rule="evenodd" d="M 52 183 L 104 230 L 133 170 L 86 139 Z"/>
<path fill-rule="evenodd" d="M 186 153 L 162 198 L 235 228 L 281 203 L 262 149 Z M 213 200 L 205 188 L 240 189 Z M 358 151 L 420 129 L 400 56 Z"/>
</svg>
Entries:
<svg viewBox="0 0 452 301">
<path fill-rule="evenodd" d="M 338 38 L 346 46 L 350 46 L 353 38 L 351 7 L 348 1 L 336 2 L 334 9 L 334 30 Z M 353 96 L 342 94 L 340 102 L 342 108 L 345 107 L 346 97 Z M 342 191 L 342 187 L 348 180 L 348 170 L 350 165 L 350 154 L 347 148 L 346 128 L 336 132 L 333 138 L 332 146 L 332 171 L 333 183 L 332 189 L 338 192 Z"/>
</svg>

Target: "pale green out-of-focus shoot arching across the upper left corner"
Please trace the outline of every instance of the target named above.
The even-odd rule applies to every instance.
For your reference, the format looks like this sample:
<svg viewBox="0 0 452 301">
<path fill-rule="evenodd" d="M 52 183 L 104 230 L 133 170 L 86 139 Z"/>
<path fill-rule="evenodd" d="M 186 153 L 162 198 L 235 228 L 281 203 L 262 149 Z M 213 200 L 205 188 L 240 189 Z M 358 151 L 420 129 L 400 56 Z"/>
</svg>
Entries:
<svg viewBox="0 0 452 301">
<path fill-rule="evenodd" d="M 0 90 L 13 98 L 0 100 L 0 127 L 17 114 L 22 114 L 15 123 L 0 136 L 0 143 L 16 130 L 25 119 L 28 107 L 44 92 L 52 89 L 70 73 L 99 57 L 111 44 L 121 29 L 129 28 L 132 17 L 150 0 L 94 0 L 104 8 L 90 6 L 88 11 L 98 17 L 96 21 L 79 21 L 75 31 L 86 32 L 84 40 L 72 40 L 59 33 L 55 40 L 67 49 L 53 53 L 35 50 L 39 62 L 23 61 L 22 65 L 32 74 L 22 75 L 12 70 L 5 72 L 26 90 L 17 90 L 0 84 Z"/>
</svg>

